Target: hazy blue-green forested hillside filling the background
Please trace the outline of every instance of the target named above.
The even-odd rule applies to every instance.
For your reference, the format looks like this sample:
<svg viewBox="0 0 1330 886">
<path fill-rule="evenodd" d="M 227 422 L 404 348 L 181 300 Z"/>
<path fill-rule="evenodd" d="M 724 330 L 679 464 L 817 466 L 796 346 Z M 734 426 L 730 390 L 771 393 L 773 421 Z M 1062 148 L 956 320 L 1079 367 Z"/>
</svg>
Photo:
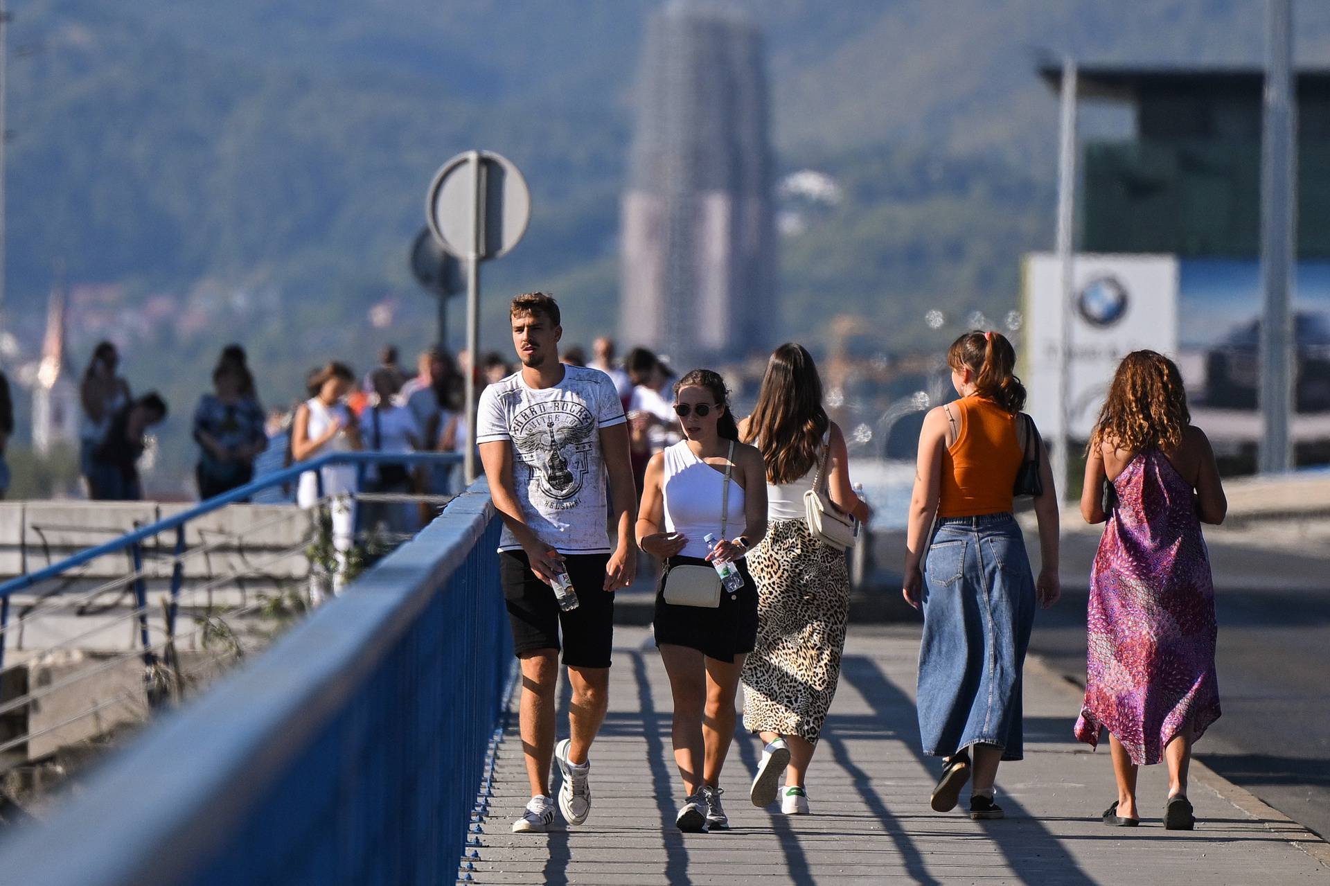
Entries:
<svg viewBox="0 0 1330 886">
<path fill-rule="evenodd" d="M 697 0 L 704 1 L 704 0 Z M 76 310 L 176 403 L 215 350 L 251 346 L 269 400 L 329 357 L 430 339 L 404 251 L 452 153 L 528 174 L 527 239 L 485 267 L 501 297 L 552 289 L 571 338 L 614 327 L 618 198 L 648 0 L 11 0 L 5 325 L 32 359 L 61 265 L 109 286 Z M 1254 63 L 1248 0 L 732 0 L 763 25 L 785 172 L 845 200 L 782 239 L 785 333 L 855 311 L 883 350 L 920 305 L 1000 315 L 1021 251 L 1051 242 L 1053 97 L 1040 51 Z M 1303 64 L 1330 60 L 1330 4 L 1298 4 Z M 391 322 L 371 327 L 371 306 Z M 460 319 L 460 318 L 459 318 Z M 455 329 L 459 329 L 456 325 Z"/>
</svg>

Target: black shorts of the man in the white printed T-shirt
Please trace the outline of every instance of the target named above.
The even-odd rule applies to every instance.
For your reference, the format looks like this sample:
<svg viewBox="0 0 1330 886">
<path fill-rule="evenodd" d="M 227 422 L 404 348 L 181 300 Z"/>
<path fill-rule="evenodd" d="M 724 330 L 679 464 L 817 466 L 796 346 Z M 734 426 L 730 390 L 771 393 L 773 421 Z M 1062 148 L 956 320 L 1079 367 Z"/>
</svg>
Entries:
<svg viewBox="0 0 1330 886">
<path fill-rule="evenodd" d="M 508 604 L 513 652 L 563 649 L 573 668 L 608 668 L 614 645 L 614 595 L 605 591 L 608 553 L 564 555 L 577 608 L 564 612 L 555 591 L 531 571 L 525 551 L 499 553 L 499 580 Z M 559 643 L 563 625 L 564 641 Z"/>
</svg>

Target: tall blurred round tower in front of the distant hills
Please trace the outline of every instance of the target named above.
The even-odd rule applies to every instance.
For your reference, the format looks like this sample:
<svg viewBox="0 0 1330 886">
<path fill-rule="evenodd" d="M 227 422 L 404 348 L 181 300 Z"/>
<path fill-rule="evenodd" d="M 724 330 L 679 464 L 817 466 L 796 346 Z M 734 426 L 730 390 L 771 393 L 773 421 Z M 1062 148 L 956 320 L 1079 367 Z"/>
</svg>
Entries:
<svg viewBox="0 0 1330 886">
<path fill-rule="evenodd" d="M 646 28 L 622 202 L 620 338 L 681 371 L 771 347 L 765 52 L 738 15 L 670 3 Z"/>
</svg>

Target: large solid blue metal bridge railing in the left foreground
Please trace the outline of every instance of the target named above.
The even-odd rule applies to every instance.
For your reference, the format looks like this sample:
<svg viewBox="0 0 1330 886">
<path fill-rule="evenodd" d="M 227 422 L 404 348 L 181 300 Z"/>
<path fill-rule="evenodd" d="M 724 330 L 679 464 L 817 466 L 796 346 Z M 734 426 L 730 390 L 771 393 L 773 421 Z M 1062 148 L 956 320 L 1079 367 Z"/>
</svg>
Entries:
<svg viewBox="0 0 1330 886">
<path fill-rule="evenodd" d="M 499 528 L 477 482 L 55 819 L 0 843 L 0 879 L 454 882 L 515 672 Z"/>
</svg>

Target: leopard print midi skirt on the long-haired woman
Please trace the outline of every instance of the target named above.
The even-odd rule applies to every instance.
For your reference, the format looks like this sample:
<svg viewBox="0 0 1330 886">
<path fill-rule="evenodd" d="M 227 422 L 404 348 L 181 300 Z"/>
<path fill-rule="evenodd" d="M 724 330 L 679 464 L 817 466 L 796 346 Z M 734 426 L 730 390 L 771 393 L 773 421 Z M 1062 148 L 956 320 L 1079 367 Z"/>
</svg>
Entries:
<svg viewBox="0 0 1330 886">
<path fill-rule="evenodd" d="M 747 553 L 757 647 L 743 663 L 743 728 L 817 741 L 841 678 L 850 575 L 803 520 L 774 520 Z"/>
</svg>

